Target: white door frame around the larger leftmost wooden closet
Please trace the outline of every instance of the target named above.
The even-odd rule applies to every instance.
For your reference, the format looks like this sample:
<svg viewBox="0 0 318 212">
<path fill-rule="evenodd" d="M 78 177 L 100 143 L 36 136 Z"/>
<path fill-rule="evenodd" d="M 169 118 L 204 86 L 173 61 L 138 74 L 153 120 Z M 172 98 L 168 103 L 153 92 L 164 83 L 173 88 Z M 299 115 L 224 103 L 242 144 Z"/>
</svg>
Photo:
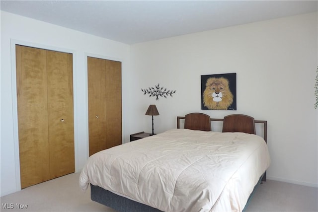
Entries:
<svg viewBox="0 0 318 212">
<path fill-rule="evenodd" d="M 55 46 L 48 46 L 44 44 L 31 43 L 21 40 L 11 39 L 11 89 L 12 89 L 12 116 L 13 116 L 13 145 L 14 145 L 14 164 L 15 164 L 15 184 L 17 190 L 21 190 L 21 180 L 20 180 L 20 156 L 19 156 L 19 135 L 18 135 L 18 113 L 17 113 L 17 97 L 16 97 L 16 58 L 15 58 L 15 45 L 22 45 L 28 47 L 34 47 L 39 49 L 52 50 L 57 52 L 71 53 L 73 56 L 73 105 L 74 105 L 74 156 L 75 156 L 75 172 L 80 170 L 79 168 L 79 154 L 78 154 L 78 108 L 77 104 L 77 81 L 76 79 L 76 51 L 72 49 L 59 48 Z"/>
</svg>

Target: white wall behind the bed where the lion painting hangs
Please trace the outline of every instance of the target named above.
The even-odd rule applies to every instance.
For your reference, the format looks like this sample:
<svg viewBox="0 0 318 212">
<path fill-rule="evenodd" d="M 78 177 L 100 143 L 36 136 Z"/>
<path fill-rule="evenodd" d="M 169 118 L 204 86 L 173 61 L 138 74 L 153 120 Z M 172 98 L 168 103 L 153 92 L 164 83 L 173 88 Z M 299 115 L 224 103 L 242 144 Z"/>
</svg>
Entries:
<svg viewBox="0 0 318 212">
<path fill-rule="evenodd" d="M 175 117 L 189 112 L 267 120 L 272 160 L 267 177 L 317 187 L 317 19 L 310 13 L 133 45 L 138 104 L 129 116 L 144 123 L 132 131 L 151 132 L 151 117 L 144 115 L 149 104 L 160 113 L 154 117 L 157 133 L 175 128 Z M 230 72 L 237 73 L 237 111 L 201 110 L 200 75 Z M 140 90 L 158 83 L 177 92 L 156 101 Z"/>
</svg>

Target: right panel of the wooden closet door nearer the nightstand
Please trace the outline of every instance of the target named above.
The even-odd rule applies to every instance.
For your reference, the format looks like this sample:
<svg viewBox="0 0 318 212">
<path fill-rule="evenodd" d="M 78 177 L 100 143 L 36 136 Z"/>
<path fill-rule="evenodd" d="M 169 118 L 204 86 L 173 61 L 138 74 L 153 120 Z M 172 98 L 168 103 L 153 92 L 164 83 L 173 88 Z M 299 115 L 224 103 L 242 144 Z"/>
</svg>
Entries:
<svg viewBox="0 0 318 212">
<path fill-rule="evenodd" d="M 121 62 L 106 64 L 106 141 L 107 148 L 122 144 Z"/>
</svg>

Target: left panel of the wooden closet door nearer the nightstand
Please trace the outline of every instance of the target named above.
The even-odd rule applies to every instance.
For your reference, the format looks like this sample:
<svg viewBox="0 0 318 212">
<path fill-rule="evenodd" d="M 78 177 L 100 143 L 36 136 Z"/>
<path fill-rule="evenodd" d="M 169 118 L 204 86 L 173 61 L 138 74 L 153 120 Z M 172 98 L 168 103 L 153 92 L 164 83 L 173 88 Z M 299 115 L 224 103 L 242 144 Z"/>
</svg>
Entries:
<svg viewBox="0 0 318 212">
<path fill-rule="evenodd" d="M 89 156 L 106 149 L 105 60 L 87 58 Z"/>
</svg>

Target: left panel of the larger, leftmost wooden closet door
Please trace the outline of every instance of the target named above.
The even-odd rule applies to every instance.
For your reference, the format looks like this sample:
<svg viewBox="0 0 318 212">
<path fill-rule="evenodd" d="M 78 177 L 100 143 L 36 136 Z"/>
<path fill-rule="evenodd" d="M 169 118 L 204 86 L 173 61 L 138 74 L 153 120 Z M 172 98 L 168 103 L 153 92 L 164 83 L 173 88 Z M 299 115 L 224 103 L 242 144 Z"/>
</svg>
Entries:
<svg viewBox="0 0 318 212">
<path fill-rule="evenodd" d="M 16 45 L 21 188 L 50 179 L 46 51 Z"/>
</svg>

